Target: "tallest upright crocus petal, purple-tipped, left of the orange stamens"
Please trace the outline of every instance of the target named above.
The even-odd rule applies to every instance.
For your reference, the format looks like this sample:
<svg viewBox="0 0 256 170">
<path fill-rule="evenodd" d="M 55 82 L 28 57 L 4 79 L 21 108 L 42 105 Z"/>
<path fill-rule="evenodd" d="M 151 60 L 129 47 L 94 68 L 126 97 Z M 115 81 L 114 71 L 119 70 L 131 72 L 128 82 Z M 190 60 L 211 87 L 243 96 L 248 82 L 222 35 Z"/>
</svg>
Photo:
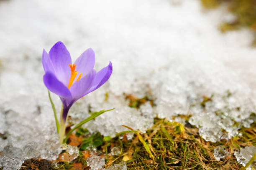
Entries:
<svg viewBox="0 0 256 170">
<path fill-rule="evenodd" d="M 69 51 L 65 45 L 59 41 L 51 47 L 49 57 L 53 63 L 57 79 L 68 86 L 71 76 L 69 64 L 72 64 Z"/>
</svg>

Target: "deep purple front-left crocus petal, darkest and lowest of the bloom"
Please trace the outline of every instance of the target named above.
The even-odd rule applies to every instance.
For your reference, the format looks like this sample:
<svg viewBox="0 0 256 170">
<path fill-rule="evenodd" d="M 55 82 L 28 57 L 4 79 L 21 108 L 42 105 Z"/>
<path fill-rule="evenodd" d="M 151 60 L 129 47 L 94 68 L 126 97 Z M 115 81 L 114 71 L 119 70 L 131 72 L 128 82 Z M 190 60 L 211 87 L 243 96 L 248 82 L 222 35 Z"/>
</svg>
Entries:
<svg viewBox="0 0 256 170">
<path fill-rule="evenodd" d="M 52 72 L 46 72 L 44 75 L 44 85 L 60 97 L 71 97 L 69 89 L 60 82 Z"/>
</svg>

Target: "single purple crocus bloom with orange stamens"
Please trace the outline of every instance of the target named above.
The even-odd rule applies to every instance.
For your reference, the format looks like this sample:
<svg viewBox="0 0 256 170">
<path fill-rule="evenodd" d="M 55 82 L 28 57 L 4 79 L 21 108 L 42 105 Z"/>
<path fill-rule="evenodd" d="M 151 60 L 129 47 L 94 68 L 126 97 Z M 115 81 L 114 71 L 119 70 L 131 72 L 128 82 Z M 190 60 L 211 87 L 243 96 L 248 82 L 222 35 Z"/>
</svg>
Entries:
<svg viewBox="0 0 256 170">
<path fill-rule="evenodd" d="M 93 69 L 95 53 L 91 48 L 85 50 L 72 65 L 70 54 L 62 42 L 51 47 L 49 54 L 43 50 L 42 63 L 44 84 L 60 97 L 64 122 L 74 102 L 102 86 L 112 73 L 111 62 L 96 73 Z"/>
</svg>

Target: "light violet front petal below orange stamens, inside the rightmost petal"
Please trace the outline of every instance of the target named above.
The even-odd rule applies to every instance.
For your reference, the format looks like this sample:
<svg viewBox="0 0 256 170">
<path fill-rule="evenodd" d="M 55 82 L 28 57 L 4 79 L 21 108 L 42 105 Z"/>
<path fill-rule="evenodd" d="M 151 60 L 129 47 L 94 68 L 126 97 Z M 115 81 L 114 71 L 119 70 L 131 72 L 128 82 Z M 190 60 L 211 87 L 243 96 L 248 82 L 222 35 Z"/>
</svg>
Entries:
<svg viewBox="0 0 256 170">
<path fill-rule="evenodd" d="M 96 71 L 92 70 L 90 71 L 86 76 L 84 76 L 82 79 L 75 82 L 70 88 L 70 92 L 72 94 L 72 99 L 74 101 L 78 100 L 79 98 L 84 96 L 84 93 L 86 93 L 90 87 L 92 86 L 92 82 L 95 78 Z"/>
</svg>

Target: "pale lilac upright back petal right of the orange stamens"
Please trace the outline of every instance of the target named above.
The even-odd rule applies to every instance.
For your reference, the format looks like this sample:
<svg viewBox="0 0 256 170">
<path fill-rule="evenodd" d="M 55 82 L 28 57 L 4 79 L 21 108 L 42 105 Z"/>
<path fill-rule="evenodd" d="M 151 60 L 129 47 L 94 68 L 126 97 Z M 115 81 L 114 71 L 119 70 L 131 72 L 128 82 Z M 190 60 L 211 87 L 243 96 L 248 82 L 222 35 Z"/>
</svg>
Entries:
<svg viewBox="0 0 256 170">
<path fill-rule="evenodd" d="M 85 50 L 80 57 L 77 58 L 77 60 L 74 62 L 76 66 L 76 70 L 78 71 L 78 74 L 82 72 L 82 77 L 87 75 L 91 70 L 93 70 L 94 64 L 95 64 L 95 53 L 94 51 L 89 48 Z"/>
</svg>

